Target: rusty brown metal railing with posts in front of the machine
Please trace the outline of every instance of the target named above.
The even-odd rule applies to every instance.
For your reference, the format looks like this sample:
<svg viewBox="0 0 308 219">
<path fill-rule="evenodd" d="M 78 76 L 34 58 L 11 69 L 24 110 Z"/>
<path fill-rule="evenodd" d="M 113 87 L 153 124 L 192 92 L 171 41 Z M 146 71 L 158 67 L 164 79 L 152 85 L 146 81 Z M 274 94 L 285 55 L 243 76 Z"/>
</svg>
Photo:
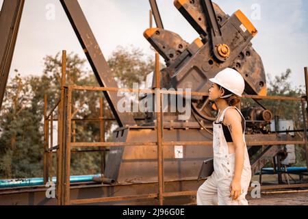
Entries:
<svg viewBox="0 0 308 219">
<path fill-rule="evenodd" d="M 305 75 L 308 76 L 307 68 L 305 68 Z M 127 200 L 135 200 L 135 199 L 144 199 L 144 198 L 157 198 L 159 201 L 159 205 L 164 205 L 164 197 L 170 196 L 193 196 L 196 194 L 196 191 L 181 191 L 181 192 L 164 192 L 164 146 L 170 145 L 185 145 L 185 146 L 194 146 L 196 144 L 203 144 L 204 146 L 211 146 L 212 142 L 165 142 L 163 136 L 164 129 L 164 112 L 162 112 L 162 94 L 177 94 L 177 91 L 167 91 L 162 90 L 159 87 L 159 84 L 156 83 L 155 90 L 151 89 L 130 89 L 130 88 L 101 88 L 101 87 L 89 87 L 89 86 L 66 86 L 65 85 L 65 77 L 66 77 L 66 52 L 62 53 L 62 84 L 61 84 L 61 99 L 57 102 L 57 104 L 52 107 L 51 112 L 48 116 L 45 116 L 45 129 L 47 133 L 45 133 L 46 141 L 48 142 L 48 127 L 49 121 L 53 120 L 52 113 L 58 107 L 58 139 L 59 145 L 52 146 L 47 148 L 45 144 L 45 155 L 44 155 L 44 179 L 48 181 L 52 179 L 47 170 L 50 168 L 50 157 L 51 152 L 53 150 L 57 150 L 57 204 L 58 205 L 77 205 L 77 204 L 86 204 L 86 203 L 105 203 L 112 201 L 127 201 Z M 155 53 L 155 77 L 156 81 L 159 81 L 160 73 L 159 73 L 159 55 Z M 308 78 L 308 77 L 306 77 Z M 306 86 L 308 87 L 308 81 L 306 80 Z M 92 92 L 99 91 L 108 91 L 108 92 L 144 92 L 144 93 L 155 93 L 156 99 L 155 103 L 157 104 L 158 112 L 155 112 L 157 116 L 157 121 L 155 125 L 157 142 L 72 142 L 73 131 L 72 131 L 72 93 L 77 92 L 78 90 L 87 90 Z M 207 96 L 207 93 L 200 92 L 191 92 L 192 95 L 199 96 Z M 256 96 L 256 95 L 244 95 L 243 98 L 254 98 L 254 99 L 275 99 L 275 100 L 288 100 L 288 101 L 300 101 L 302 103 L 303 110 L 303 121 L 304 121 L 304 138 L 301 140 L 264 140 L 259 142 L 247 142 L 247 146 L 257 146 L 257 145 L 268 145 L 271 150 L 277 149 L 277 146 L 283 144 L 303 144 L 307 149 L 307 118 L 305 116 L 305 102 L 307 102 L 307 96 L 303 96 L 301 98 L 297 97 L 285 97 L 285 96 Z M 46 99 L 45 99 L 46 102 Z M 46 110 L 44 111 L 46 115 Z M 102 119 L 100 118 L 100 122 Z M 51 122 L 52 123 L 52 122 Z M 51 132 L 52 136 L 52 132 Z M 86 147 L 112 147 L 112 146 L 140 146 L 140 145 L 153 145 L 157 146 L 157 193 L 151 194 L 131 194 L 128 196 L 105 196 L 101 198 L 84 198 L 84 199 L 71 199 L 70 198 L 70 154 L 72 153 L 72 149 L 74 148 L 86 148 Z M 49 167 L 48 167 L 49 166 Z M 257 168 L 259 165 L 255 166 Z M 306 183 L 307 184 L 307 183 Z M 263 189 L 274 189 L 274 188 L 298 188 L 298 187 L 307 187 L 305 183 L 296 184 L 296 185 L 265 185 L 262 186 Z M 114 185 L 110 185 L 114 186 Z M 249 190 L 252 190 L 250 188 Z"/>
</svg>

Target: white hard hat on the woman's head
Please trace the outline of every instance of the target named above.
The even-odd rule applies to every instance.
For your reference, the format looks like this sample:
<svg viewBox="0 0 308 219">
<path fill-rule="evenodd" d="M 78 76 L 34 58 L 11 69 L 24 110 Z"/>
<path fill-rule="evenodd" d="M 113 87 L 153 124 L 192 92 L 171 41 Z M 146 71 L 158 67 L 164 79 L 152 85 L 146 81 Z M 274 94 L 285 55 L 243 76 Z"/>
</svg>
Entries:
<svg viewBox="0 0 308 219">
<path fill-rule="evenodd" d="M 242 96 L 242 93 L 245 89 L 245 81 L 242 75 L 233 68 L 225 68 L 220 71 L 214 78 L 209 79 L 209 81 L 217 83 L 222 86 L 222 88 L 226 88 L 233 94 L 238 96 Z M 231 95 L 227 95 L 231 96 Z M 220 96 L 221 98 L 227 96 Z"/>
</svg>

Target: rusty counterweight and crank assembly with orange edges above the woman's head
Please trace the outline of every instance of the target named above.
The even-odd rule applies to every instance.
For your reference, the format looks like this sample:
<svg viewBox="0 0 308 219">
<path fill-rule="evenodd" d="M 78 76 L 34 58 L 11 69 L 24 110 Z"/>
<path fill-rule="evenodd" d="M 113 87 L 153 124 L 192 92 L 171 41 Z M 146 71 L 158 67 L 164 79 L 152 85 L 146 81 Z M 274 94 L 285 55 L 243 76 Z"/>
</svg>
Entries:
<svg viewBox="0 0 308 219">
<path fill-rule="evenodd" d="M 159 52 L 167 68 L 162 70 L 163 88 L 191 88 L 207 92 L 220 70 L 231 67 L 245 79 L 246 94 L 266 95 L 266 75 L 251 40 L 257 29 L 240 10 L 228 16 L 211 1 L 175 1 L 175 6 L 196 29 L 200 38 L 189 44 L 178 34 L 150 28 L 144 36 Z M 214 31 L 215 30 L 215 31 Z M 194 111 L 205 120 L 214 120 L 212 105 L 201 96 L 192 96 Z"/>
</svg>

